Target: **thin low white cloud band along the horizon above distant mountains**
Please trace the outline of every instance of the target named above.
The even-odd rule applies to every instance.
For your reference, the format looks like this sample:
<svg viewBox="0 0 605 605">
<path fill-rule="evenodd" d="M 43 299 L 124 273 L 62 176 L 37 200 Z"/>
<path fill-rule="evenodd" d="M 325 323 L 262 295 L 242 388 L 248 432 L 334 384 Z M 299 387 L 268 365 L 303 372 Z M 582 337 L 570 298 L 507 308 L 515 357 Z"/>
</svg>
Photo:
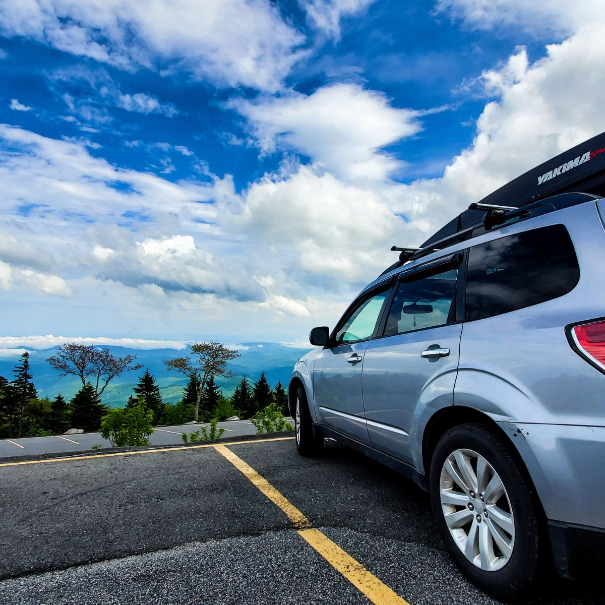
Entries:
<svg viewBox="0 0 605 605">
<path fill-rule="evenodd" d="M 188 345 L 186 341 L 169 340 L 146 340 L 142 338 L 106 338 L 105 336 L 0 336 L 0 345 L 3 347 L 28 347 L 44 349 L 58 347 L 65 342 L 77 342 L 77 344 L 94 344 L 111 347 L 140 348 L 151 350 L 155 348 L 174 348 L 181 350 Z M 25 349 L 4 348 L 4 351 L 19 351 L 21 355 Z M 7 353 L 7 355 L 10 353 Z M 15 353 L 16 355 L 17 353 Z"/>
</svg>

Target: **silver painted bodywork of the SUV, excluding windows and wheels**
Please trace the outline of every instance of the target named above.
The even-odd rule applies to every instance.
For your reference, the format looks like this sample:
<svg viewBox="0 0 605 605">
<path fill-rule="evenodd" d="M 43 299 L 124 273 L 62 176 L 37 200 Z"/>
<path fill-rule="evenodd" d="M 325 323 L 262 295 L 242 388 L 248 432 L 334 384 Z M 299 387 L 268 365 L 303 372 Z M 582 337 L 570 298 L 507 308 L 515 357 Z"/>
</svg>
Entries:
<svg viewBox="0 0 605 605">
<path fill-rule="evenodd" d="M 315 350 L 304 364 L 310 376 L 295 368 L 315 422 L 425 473 L 431 418 L 471 408 L 509 436 L 550 520 L 605 528 L 605 373 L 575 352 L 565 329 L 605 317 L 603 218 L 605 200 L 587 201 L 448 246 L 368 284 L 361 293 L 440 257 L 551 224 L 564 224 L 580 266 L 577 286 L 558 298 L 450 324 L 447 334 L 440 327 L 359 343 L 358 373 L 341 372 L 329 349 Z M 450 348 L 450 356 L 434 364 L 420 358 L 428 344 Z"/>
</svg>

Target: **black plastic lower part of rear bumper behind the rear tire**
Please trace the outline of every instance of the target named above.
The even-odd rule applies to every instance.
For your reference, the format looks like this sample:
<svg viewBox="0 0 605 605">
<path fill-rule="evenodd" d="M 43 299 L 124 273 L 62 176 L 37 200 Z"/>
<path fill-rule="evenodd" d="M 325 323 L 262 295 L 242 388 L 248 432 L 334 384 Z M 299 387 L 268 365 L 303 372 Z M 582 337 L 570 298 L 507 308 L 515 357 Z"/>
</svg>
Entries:
<svg viewBox="0 0 605 605">
<path fill-rule="evenodd" d="M 594 577 L 605 565 L 605 529 L 548 522 L 557 572 L 565 578 Z"/>
</svg>

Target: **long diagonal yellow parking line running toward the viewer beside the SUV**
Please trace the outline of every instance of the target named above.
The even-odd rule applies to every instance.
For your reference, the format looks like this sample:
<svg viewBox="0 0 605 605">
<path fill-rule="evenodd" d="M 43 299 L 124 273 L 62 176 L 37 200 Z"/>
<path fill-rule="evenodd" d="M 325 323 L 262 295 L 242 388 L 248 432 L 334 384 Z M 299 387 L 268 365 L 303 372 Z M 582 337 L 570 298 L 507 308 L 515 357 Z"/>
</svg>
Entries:
<svg viewBox="0 0 605 605">
<path fill-rule="evenodd" d="M 231 443 L 228 445 L 231 445 Z M 229 460 L 253 485 L 257 486 L 271 502 L 279 506 L 292 521 L 298 534 L 372 603 L 375 605 L 410 605 L 404 598 L 399 597 L 396 592 L 368 571 L 359 561 L 343 551 L 327 535 L 319 529 L 312 528 L 309 519 L 296 506 L 263 476 L 258 474 L 252 466 L 229 450 L 227 445 L 214 445 L 214 449 Z"/>
</svg>

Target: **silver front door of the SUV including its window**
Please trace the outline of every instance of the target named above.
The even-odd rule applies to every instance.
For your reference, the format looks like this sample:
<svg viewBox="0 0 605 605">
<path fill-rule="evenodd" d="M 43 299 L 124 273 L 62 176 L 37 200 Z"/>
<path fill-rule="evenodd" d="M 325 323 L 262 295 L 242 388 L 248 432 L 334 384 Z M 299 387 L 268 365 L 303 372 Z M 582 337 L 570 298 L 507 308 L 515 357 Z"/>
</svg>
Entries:
<svg viewBox="0 0 605 605">
<path fill-rule="evenodd" d="M 376 335 L 390 289 L 390 283 L 384 284 L 353 302 L 313 367 L 320 423 L 363 443 L 370 443 L 361 393 L 364 353 Z"/>
</svg>

